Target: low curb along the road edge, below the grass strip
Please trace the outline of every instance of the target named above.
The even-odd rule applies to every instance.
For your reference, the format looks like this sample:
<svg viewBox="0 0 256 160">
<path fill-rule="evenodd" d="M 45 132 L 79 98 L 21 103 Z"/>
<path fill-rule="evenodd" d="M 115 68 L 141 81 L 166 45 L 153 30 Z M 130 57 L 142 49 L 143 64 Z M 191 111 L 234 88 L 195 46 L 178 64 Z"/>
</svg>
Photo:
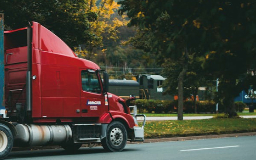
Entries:
<svg viewBox="0 0 256 160">
<path fill-rule="evenodd" d="M 149 138 L 149 139 L 145 139 L 144 142 L 127 142 L 127 144 L 199 140 L 199 139 L 208 139 L 208 138 L 224 138 L 224 137 L 240 137 L 240 136 L 256 136 L 256 132 L 218 134 L 218 135 L 206 135 L 206 136 L 172 137 L 172 138 Z M 101 146 L 101 144 L 96 144 L 95 146 Z M 82 147 L 88 147 L 88 144 L 83 144 Z M 13 147 L 12 152 L 24 151 L 24 150 L 45 150 L 45 149 L 56 149 L 56 148 L 62 148 L 62 147 L 61 146 L 37 146 L 37 147 L 22 147 L 22 148 Z"/>
</svg>

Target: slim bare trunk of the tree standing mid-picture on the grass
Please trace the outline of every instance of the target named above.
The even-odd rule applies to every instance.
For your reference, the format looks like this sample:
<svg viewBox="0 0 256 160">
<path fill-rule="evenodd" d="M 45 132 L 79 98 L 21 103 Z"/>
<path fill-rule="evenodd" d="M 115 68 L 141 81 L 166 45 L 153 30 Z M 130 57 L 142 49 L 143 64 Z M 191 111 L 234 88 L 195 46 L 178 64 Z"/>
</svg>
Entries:
<svg viewBox="0 0 256 160">
<path fill-rule="evenodd" d="M 188 50 L 185 48 L 183 68 L 178 77 L 178 120 L 183 120 L 183 106 L 184 106 L 184 96 L 183 96 L 183 81 L 188 70 Z"/>
</svg>

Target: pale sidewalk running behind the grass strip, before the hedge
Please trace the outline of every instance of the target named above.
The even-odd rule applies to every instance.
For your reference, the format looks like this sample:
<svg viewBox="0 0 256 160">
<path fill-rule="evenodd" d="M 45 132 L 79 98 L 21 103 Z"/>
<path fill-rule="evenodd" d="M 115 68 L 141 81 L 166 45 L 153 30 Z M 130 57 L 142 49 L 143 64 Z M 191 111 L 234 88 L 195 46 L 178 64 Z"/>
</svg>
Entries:
<svg viewBox="0 0 256 160">
<path fill-rule="evenodd" d="M 241 118 L 256 118 L 256 116 L 240 116 Z M 183 116 L 184 120 L 203 120 L 210 119 L 213 116 Z M 146 121 L 150 120 L 177 120 L 178 117 L 146 117 Z M 143 117 L 138 117 L 138 121 L 142 121 Z"/>
</svg>

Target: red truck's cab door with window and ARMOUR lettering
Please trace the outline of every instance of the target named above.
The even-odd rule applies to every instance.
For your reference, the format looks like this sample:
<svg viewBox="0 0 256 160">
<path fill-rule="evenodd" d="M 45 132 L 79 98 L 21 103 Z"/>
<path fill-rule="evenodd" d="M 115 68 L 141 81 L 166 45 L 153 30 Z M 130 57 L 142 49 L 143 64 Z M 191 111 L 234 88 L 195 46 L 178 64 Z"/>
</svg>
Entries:
<svg viewBox="0 0 256 160">
<path fill-rule="evenodd" d="M 94 70 L 81 69 L 81 116 L 99 117 L 105 110 L 101 80 Z"/>
</svg>

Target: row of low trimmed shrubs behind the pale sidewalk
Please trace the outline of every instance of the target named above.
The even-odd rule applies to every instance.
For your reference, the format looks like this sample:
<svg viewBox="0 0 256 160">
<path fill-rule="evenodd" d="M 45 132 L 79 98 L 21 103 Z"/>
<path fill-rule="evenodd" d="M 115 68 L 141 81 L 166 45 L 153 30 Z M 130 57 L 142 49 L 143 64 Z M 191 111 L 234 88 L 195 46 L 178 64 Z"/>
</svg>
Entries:
<svg viewBox="0 0 256 160">
<path fill-rule="evenodd" d="M 177 111 L 177 100 L 142 100 L 135 101 L 135 105 L 138 107 L 140 113 L 173 113 Z M 242 112 L 246 107 L 243 102 L 235 102 L 236 112 Z M 196 102 L 196 110 L 198 113 L 215 113 L 216 103 L 214 101 L 200 101 Z M 185 101 L 184 108 L 185 113 L 194 113 L 194 104 L 192 101 Z M 218 106 L 219 113 L 224 112 L 223 104 Z"/>
</svg>

